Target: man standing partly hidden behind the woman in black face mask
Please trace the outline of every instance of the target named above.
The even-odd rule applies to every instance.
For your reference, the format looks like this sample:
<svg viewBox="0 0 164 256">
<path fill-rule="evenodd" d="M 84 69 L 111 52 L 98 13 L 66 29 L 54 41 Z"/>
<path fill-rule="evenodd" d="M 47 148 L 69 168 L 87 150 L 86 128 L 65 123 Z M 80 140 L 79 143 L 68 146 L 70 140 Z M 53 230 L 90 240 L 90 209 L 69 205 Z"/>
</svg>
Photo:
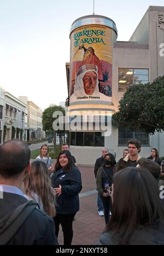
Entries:
<svg viewBox="0 0 164 256">
<path fill-rule="evenodd" d="M 103 148 L 101 158 L 97 158 L 97 160 L 95 162 L 95 168 L 94 168 L 95 178 L 97 176 L 97 172 L 98 172 L 99 167 L 101 167 L 103 165 L 104 157 L 108 153 L 109 153 L 109 149 L 108 148 Z M 104 216 L 103 203 L 102 203 L 101 196 L 100 196 L 99 193 L 97 195 L 97 207 L 98 207 L 98 215 L 99 216 Z"/>
</svg>

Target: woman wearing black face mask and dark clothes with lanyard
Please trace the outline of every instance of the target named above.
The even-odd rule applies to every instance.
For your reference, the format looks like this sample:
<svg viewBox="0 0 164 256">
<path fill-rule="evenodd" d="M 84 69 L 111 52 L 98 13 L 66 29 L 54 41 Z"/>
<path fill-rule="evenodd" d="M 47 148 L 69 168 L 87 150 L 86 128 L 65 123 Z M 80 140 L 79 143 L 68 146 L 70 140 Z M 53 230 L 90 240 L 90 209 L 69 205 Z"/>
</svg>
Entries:
<svg viewBox="0 0 164 256">
<path fill-rule="evenodd" d="M 104 217 L 106 224 L 109 222 L 109 214 L 112 212 L 112 201 L 109 196 L 109 188 L 113 184 L 114 166 L 116 164 L 114 155 L 107 154 L 104 157 L 104 164 L 99 167 L 96 176 L 97 190 L 101 196 L 104 207 Z"/>
</svg>

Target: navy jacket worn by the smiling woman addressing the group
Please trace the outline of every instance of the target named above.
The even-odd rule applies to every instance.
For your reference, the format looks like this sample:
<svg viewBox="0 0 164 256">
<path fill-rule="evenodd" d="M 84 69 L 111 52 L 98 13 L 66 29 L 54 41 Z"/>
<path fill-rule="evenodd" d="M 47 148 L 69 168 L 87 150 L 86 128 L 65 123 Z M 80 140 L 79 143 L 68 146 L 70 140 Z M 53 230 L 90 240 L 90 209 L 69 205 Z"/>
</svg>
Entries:
<svg viewBox="0 0 164 256">
<path fill-rule="evenodd" d="M 52 188 L 61 185 L 61 195 L 57 196 L 56 212 L 60 214 L 70 214 L 79 211 L 79 193 L 82 189 L 81 173 L 73 166 L 69 172 L 58 170 L 52 177 Z"/>
</svg>

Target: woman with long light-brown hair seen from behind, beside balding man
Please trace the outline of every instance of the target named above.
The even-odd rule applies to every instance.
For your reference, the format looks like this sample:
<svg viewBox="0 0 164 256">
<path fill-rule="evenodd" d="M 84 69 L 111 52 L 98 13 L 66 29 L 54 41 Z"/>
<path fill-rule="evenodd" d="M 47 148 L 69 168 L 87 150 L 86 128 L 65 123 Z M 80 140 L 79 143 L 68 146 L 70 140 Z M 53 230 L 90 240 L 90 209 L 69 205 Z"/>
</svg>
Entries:
<svg viewBox="0 0 164 256">
<path fill-rule="evenodd" d="M 40 210 L 54 218 L 55 191 L 51 187 L 51 178 L 48 167 L 44 162 L 34 161 L 31 164 L 31 171 L 25 181 L 25 197 L 38 203 Z"/>
</svg>

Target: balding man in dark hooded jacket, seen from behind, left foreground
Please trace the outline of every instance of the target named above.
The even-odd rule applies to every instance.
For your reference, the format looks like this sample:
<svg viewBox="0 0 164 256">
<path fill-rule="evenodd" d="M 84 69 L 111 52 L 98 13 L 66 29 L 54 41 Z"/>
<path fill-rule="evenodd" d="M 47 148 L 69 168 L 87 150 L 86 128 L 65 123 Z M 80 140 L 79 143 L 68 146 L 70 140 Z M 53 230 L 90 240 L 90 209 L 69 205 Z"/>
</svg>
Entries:
<svg viewBox="0 0 164 256">
<path fill-rule="evenodd" d="M 0 155 L 0 245 L 58 245 L 54 221 L 21 191 L 31 169 L 27 144 L 5 142 Z"/>
</svg>

